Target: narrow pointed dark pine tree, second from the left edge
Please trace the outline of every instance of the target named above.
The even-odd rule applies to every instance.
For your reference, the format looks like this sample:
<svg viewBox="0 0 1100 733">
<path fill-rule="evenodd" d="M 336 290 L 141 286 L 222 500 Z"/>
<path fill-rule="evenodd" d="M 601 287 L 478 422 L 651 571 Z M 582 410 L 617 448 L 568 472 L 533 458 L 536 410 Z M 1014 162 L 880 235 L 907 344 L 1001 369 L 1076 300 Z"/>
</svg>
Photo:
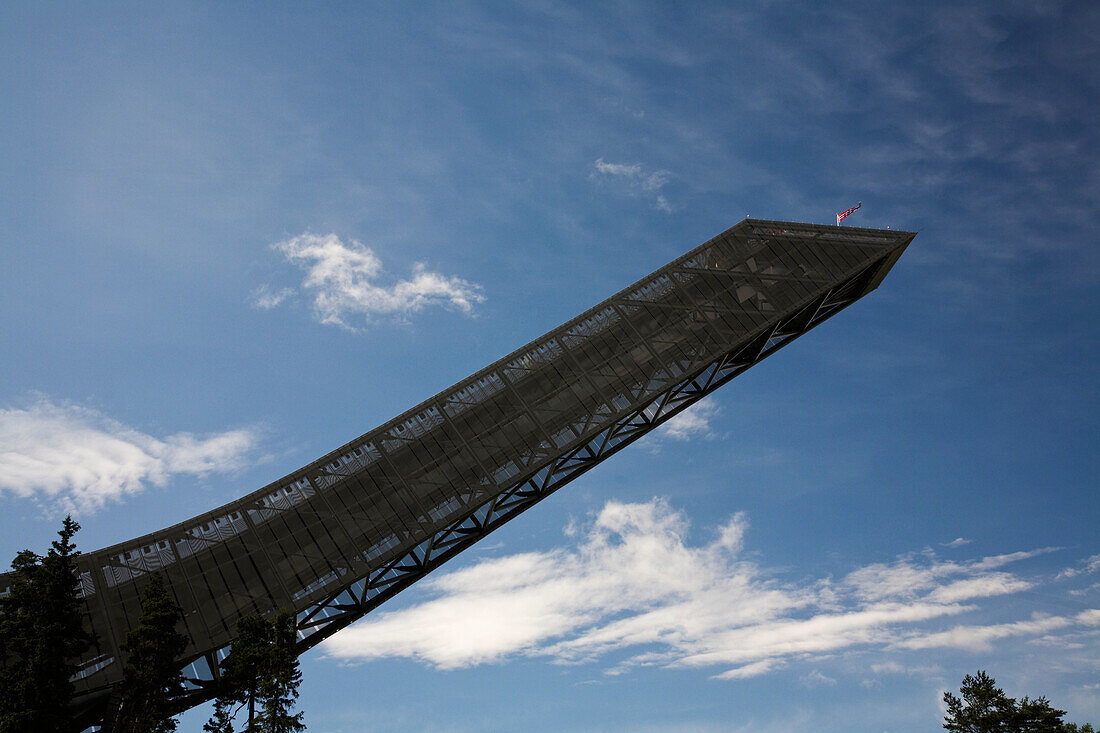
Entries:
<svg viewBox="0 0 1100 733">
<path fill-rule="evenodd" d="M 176 730 L 170 701 L 184 692 L 177 660 L 188 639 L 176 630 L 182 617 L 179 606 L 161 573 L 154 572 L 145 583 L 141 610 L 138 624 L 122 645 L 127 666 L 112 731 L 169 733 Z"/>
</svg>

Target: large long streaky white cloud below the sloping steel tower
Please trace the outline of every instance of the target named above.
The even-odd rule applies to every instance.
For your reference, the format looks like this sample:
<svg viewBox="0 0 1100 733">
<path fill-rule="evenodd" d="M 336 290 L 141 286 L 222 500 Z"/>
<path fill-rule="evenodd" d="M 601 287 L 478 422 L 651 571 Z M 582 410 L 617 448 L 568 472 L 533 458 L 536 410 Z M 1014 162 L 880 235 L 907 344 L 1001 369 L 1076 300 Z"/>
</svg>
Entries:
<svg viewBox="0 0 1100 733">
<path fill-rule="evenodd" d="M 739 513 L 710 541 L 691 545 L 686 517 L 667 502 L 609 502 L 568 545 L 429 579 L 421 584 L 429 600 L 372 614 L 324 649 L 334 659 L 408 657 L 443 669 L 514 656 L 593 663 L 626 652 L 607 674 L 696 667 L 743 679 L 848 650 L 955 644 L 963 634 L 928 626 L 1032 584 L 990 566 L 1035 553 L 967 562 L 925 553 L 859 568 L 839 582 L 780 582 L 743 556 L 747 526 Z M 1056 627 L 1032 621 L 975 637 L 989 643 Z"/>
</svg>

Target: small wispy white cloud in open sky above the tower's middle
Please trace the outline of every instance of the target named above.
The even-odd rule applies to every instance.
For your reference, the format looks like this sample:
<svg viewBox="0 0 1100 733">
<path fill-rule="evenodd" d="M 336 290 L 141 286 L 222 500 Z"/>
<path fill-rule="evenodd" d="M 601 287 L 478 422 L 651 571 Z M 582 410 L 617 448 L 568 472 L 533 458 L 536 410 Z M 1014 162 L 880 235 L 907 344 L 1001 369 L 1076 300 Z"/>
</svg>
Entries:
<svg viewBox="0 0 1100 733">
<path fill-rule="evenodd" d="M 382 261 L 354 239 L 343 242 L 336 234 L 304 233 L 272 248 L 305 270 L 301 289 L 311 296 L 322 324 L 353 329 L 349 322 L 353 316 L 403 317 L 433 305 L 470 314 L 485 299 L 480 285 L 432 272 L 422 263 L 413 266 L 409 280 L 382 284 Z M 273 308 L 292 294 L 289 288 L 272 293 L 264 286 L 253 294 L 253 303 Z"/>
</svg>

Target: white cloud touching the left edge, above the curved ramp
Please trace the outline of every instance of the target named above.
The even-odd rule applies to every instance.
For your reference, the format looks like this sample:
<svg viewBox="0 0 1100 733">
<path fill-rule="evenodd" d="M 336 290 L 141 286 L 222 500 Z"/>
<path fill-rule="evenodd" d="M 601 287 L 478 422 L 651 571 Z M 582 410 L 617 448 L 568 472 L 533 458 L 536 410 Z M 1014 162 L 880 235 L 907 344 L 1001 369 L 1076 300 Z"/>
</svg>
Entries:
<svg viewBox="0 0 1100 733">
<path fill-rule="evenodd" d="M 238 468 L 255 442 L 249 429 L 156 438 L 94 409 L 43 398 L 0 408 L 0 490 L 88 513 L 175 473 Z"/>
</svg>

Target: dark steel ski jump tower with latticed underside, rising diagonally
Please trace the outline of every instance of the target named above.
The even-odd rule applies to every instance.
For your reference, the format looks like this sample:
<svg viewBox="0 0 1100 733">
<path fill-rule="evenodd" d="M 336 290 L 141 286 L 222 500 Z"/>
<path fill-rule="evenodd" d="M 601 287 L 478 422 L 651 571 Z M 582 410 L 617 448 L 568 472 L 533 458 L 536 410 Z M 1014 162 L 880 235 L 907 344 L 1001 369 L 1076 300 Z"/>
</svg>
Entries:
<svg viewBox="0 0 1100 733">
<path fill-rule="evenodd" d="M 201 702 L 241 616 L 294 609 L 308 649 L 875 289 L 914 236 L 746 219 L 309 466 L 81 556 L 85 720 L 147 573 L 191 639 L 180 708 Z"/>
</svg>

